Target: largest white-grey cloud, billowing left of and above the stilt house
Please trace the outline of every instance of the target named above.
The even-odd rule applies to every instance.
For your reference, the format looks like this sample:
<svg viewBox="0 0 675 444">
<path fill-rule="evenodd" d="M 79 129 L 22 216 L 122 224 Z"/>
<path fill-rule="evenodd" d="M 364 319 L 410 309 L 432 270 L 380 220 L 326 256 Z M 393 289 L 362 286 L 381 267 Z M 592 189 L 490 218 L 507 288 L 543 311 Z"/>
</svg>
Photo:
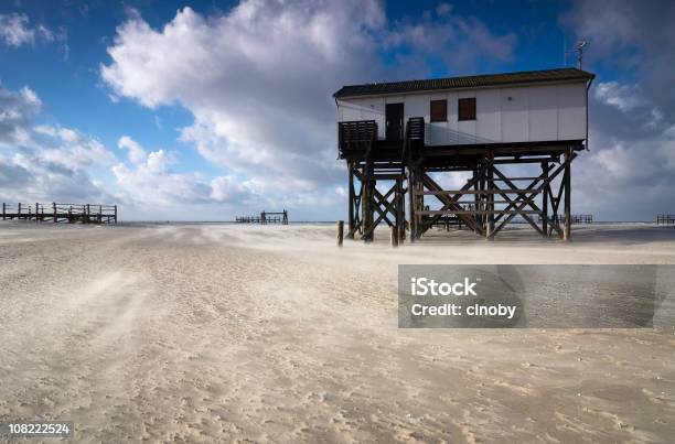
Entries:
<svg viewBox="0 0 675 444">
<path fill-rule="evenodd" d="M 203 17 L 190 8 L 161 29 L 132 14 L 100 67 L 115 96 L 148 108 L 180 104 L 194 122 L 181 140 L 203 158 L 283 202 L 298 198 L 336 207 L 344 166 L 335 160 L 335 105 L 343 84 L 397 77 L 383 51 L 407 53 L 472 46 L 461 61 L 506 59 L 515 37 L 495 36 L 478 19 L 438 9 L 441 23 L 388 23 L 377 1 L 243 1 L 227 13 Z M 426 20 L 426 19 L 422 19 Z M 441 36 L 442 39 L 438 39 Z M 433 47 L 426 45 L 433 40 Z M 426 65 L 415 64 L 416 76 Z M 410 73 L 398 66 L 398 73 Z M 216 193 L 217 195 L 217 193 Z M 299 197 L 302 196 L 302 197 Z M 330 203 L 330 204 L 329 204 Z"/>
</svg>

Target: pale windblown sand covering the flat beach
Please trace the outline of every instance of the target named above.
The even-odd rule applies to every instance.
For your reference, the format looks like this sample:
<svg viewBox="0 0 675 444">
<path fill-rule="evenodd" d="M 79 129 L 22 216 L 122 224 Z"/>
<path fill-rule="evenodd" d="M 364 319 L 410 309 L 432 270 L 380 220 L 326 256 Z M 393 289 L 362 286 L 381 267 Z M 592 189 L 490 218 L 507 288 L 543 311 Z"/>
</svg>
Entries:
<svg viewBox="0 0 675 444">
<path fill-rule="evenodd" d="M 675 229 L 384 235 L 0 225 L 0 421 L 85 442 L 672 442 L 673 329 L 399 329 L 396 283 L 398 263 L 675 263 Z"/>
</svg>

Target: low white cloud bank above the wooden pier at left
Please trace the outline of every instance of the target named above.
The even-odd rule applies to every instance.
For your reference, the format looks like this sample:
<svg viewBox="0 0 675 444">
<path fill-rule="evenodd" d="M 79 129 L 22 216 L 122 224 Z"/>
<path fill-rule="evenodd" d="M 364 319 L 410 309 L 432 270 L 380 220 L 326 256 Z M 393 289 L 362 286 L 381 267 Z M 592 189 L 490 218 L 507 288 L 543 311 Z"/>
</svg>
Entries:
<svg viewBox="0 0 675 444">
<path fill-rule="evenodd" d="M 0 199 L 3 202 L 116 203 L 126 218 L 199 218 L 214 204 L 245 205 L 253 184 L 231 175 L 178 173 L 176 156 L 146 150 L 129 136 L 118 159 L 100 141 L 61 126 L 36 122 L 42 101 L 29 87 L 0 85 Z M 205 208 L 195 210 L 200 205 Z M 185 213 L 185 208 L 192 208 Z M 213 208 L 212 208 L 213 209 Z M 196 213 L 201 212 L 201 216 Z M 223 218 L 223 209 L 212 210 Z"/>
</svg>

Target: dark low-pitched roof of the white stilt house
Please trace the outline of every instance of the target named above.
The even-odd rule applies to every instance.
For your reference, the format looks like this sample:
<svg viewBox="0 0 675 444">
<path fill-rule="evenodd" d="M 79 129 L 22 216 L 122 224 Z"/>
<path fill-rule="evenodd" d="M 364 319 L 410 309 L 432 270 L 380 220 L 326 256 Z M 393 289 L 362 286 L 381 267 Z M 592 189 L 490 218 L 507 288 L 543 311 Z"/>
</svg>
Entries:
<svg viewBox="0 0 675 444">
<path fill-rule="evenodd" d="M 377 96 L 384 94 L 432 91 L 438 89 L 476 88 L 510 84 L 546 83 L 562 80 L 590 80 L 594 74 L 577 68 L 524 71 L 519 73 L 483 74 L 479 76 L 430 78 L 424 80 L 386 82 L 365 85 L 347 85 L 333 97 Z"/>
</svg>

